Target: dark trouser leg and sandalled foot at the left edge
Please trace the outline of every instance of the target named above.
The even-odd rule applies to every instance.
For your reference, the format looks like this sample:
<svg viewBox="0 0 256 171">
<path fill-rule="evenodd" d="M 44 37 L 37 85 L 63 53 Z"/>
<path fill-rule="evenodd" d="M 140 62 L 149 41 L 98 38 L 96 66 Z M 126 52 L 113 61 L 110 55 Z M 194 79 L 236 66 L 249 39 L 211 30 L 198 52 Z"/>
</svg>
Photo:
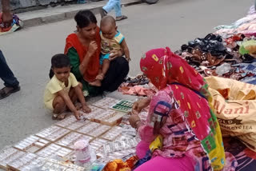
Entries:
<svg viewBox="0 0 256 171">
<path fill-rule="evenodd" d="M 8 97 L 10 93 L 15 93 L 20 90 L 19 82 L 14 77 L 13 72 L 7 65 L 6 58 L 0 50 L 0 78 L 4 82 L 5 87 L 0 89 L 0 99 Z"/>
</svg>

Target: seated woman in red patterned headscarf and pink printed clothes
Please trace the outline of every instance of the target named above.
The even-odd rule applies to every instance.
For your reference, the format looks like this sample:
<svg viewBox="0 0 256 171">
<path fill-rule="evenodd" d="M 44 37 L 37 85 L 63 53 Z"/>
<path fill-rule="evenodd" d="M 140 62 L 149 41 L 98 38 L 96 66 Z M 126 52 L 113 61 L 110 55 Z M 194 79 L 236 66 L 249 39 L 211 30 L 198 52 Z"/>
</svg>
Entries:
<svg viewBox="0 0 256 171">
<path fill-rule="evenodd" d="M 134 113 L 150 104 L 146 123 L 134 114 L 130 125 L 142 138 L 138 157 L 150 149 L 151 158 L 135 170 L 223 170 L 222 134 L 202 76 L 168 47 L 148 51 L 140 66 L 159 91 L 134 103 Z"/>
</svg>

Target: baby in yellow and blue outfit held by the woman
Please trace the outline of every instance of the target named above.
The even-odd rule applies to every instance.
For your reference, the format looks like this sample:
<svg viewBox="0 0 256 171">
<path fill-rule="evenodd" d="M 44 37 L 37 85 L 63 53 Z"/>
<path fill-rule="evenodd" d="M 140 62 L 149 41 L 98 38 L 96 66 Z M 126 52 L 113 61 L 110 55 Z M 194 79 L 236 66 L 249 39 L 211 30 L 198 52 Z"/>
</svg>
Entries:
<svg viewBox="0 0 256 171">
<path fill-rule="evenodd" d="M 99 70 L 99 74 L 94 82 L 90 82 L 90 85 L 101 86 L 101 81 L 106 75 L 107 70 L 110 67 L 111 50 L 123 50 L 126 56 L 126 60 L 130 62 L 130 52 L 126 44 L 124 36 L 118 31 L 115 19 L 111 16 L 102 18 L 101 21 L 101 48 L 102 54 L 100 58 L 100 65 L 102 66 Z"/>
</svg>

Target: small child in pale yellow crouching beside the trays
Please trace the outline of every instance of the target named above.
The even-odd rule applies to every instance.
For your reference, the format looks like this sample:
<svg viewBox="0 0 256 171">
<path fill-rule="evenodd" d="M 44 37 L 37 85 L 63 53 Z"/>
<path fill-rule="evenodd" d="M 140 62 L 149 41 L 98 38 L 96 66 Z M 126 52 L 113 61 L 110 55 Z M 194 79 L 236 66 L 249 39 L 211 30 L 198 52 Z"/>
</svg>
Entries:
<svg viewBox="0 0 256 171">
<path fill-rule="evenodd" d="M 65 54 L 56 54 L 51 58 L 51 67 L 54 77 L 46 85 L 44 103 L 46 108 L 53 111 L 53 119 L 63 119 L 66 107 L 79 119 L 80 113 L 74 106 L 74 102 L 79 99 L 82 103 L 82 110 L 90 113 L 91 109 L 86 105 L 85 97 L 82 93 L 82 84 L 78 83 L 74 74 L 70 73 L 70 59 Z"/>
</svg>

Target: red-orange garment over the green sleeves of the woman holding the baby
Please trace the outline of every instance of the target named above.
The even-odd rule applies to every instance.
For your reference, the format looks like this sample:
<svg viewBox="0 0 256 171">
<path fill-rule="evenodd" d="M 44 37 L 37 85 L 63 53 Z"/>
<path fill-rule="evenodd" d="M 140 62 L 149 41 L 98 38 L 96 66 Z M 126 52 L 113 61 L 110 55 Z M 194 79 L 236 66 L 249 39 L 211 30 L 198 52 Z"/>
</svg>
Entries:
<svg viewBox="0 0 256 171">
<path fill-rule="evenodd" d="M 97 28 L 96 32 L 97 33 L 95 34 L 96 36 L 94 41 L 97 43 L 98 47 L 100 47 L 101 38 L 99 36 L 99 28 Z M 65 54 L 67 54 L 68 56 L 69 56 L 68 52 L 71 48 L 74 48 L 77 51 L 79 62 L 81 63 L 83 58 L 86 56 L 88 47 L 82 45 L 82 43 L 78 39 L 77 34 L 70 34 L 66 38 Z M 100 48 L 98 48 L 94 56 L 90 59 L 86 72 L 82 74 L 82 77 L 84 78 L 84 80 L 86 80 L 86 82 L 93 82 L 96 76 L 98 75 L 99 58 L 100 58 Z M 75 67 L 78 69 L 79 65 Z"/>
</svg>

